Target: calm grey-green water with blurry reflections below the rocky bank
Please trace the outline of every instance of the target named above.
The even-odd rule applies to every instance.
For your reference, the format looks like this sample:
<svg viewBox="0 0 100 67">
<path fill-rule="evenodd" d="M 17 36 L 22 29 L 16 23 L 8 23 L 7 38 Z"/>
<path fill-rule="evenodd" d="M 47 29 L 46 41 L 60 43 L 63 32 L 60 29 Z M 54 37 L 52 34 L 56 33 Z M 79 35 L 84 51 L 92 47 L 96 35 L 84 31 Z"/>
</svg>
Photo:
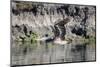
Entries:
<svg viewBox="0 0 100 67">
<path fill-rule="evenodd" d="M 95 44 L 13 42 L 12 65 L 46 64 L 95 60 Z"/>
</svg>

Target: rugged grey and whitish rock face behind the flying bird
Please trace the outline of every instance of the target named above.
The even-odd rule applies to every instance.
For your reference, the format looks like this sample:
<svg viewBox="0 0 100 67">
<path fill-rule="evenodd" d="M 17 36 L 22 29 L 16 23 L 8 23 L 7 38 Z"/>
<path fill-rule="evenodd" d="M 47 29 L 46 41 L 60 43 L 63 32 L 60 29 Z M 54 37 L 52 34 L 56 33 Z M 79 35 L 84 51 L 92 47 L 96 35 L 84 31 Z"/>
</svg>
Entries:
<svg viewBox="0 0 100 67">
<path fill-rule="evenodd" d="M 71 20 L 65 25 L 66 38 L 95 36 L 95 13 L 95 6 L 12 2 L 12 37 L 31 32 L 39 37 L 53 36 L 51 26 L 65 18 Z"/>
</svg>

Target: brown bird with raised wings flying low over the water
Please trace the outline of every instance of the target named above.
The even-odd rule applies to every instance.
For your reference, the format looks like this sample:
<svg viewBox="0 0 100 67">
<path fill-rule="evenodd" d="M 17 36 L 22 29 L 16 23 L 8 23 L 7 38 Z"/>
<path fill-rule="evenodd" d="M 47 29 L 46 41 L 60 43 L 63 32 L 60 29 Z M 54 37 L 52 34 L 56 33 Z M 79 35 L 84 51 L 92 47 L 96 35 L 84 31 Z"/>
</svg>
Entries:
<svg viewBox="0 0 100 67">
<path fill-rule="evenodd" d="M 66 43 L 66 41 L 64 41 L 65 34 L 66 34 L 65 25 L 68 22 L 70 22 L 70 20 L 71 20 L 70 17 L 68 17 L 68 18 L 60 20 L 54 24 L 54 27 L 52 27 L 53 32 L 54 32 L 54 39 L 55 39 L 54 42 L 63 43 L 63 44 Z"/>
</svg>

